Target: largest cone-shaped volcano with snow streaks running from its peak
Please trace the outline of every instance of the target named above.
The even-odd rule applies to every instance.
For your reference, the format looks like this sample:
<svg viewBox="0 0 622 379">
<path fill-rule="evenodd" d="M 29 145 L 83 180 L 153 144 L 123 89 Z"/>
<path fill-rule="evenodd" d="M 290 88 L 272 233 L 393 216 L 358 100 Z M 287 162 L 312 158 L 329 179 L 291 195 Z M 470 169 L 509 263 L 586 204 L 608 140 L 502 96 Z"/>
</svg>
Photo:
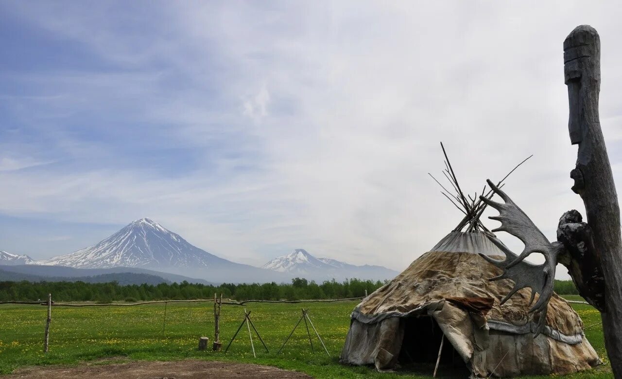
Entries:
<svg viewBox="0 0 622 379">
<path fill-rule="evenodd" d="M 232 263 L 170 232 L 149 218 L 141 218 L 96 245 L 68 255 L 57 256 L 41 264 L 75 268 L 116 266 L 163 268 L 210 268 Z"/>
</svg>

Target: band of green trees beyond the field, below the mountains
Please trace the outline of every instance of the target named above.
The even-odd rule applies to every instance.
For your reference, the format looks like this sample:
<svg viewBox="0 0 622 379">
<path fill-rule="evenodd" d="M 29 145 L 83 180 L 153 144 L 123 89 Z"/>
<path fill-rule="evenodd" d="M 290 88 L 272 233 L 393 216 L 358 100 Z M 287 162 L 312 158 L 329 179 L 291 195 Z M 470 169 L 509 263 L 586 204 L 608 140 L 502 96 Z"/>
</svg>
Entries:
<svg viewBox="0 0 622 379">
<path fill-rule="evenodd" d="M 152 301 L 152 300 L 196 300 L 211 299 L 214 294 L 244 300 L 303 300 L 303 299 L 343 299 L 364 296 L 376 291 L 385 282 L 360 279 L 345 281 L 323 281 L 318 284 L 304 278 L 294 278 L 292 283 L 232 284 L 220 286 L 210 284 L 160 283 L 121 285 L 118 282 L 85 283 L 68 282 L 0 282 L 0 301 L 39 301 L 52 294 L 55 302 L 89 301 L 107 303 L 113 301 Z M 570 280 L 555 280 L 555 292 L 560 295 L 576 295 L 578 290 Z"/>
</svg>

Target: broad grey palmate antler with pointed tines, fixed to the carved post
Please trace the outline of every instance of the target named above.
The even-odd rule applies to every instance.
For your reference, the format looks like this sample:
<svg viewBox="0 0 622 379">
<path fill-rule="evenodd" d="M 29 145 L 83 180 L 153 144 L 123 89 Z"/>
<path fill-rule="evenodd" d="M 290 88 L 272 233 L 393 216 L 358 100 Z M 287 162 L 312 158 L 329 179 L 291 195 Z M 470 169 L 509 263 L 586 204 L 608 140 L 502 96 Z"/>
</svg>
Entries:
<svg viewBox="0 0 622 379">
<path fill-rule="evenodd" d="M 540 294 L 536 304 L 529 309 L 530 313 L 534 312 L 540 316 L 534 333 L 534 337 L 537 337 L 544 329 L 547 306 L 553 294 L 557 256 L 564 251 L 564 245 L 559 242 L 550 243 L 544 234 L 534 225 L 531 219 L 527 217 L 525 212 L 522 212 L 521 208 L 514 204 L 512 199 L 510 199 L 505 192 L 500 190 L 490 180 L 486 180 L 486 182 L 488 182 L 490 188 L 505 202 L 501 204 L 480 196 L 481 201 L 499 211 L 498 216 L 489 217 L 491 220 L 498 220 L 501 222 L 501 227 L 493 229 L 493 232 L 510 233 L 519 238 L 519 240 L 524 243 L 525 248 L 522 250 L 521 255 L 516 255 L 509 250 L 503 242 L 499 241 L 496 236 L 486 234 L 494 245 L 498 246 L 505 253 L 506 259 L 498 261 L 490 258 L 490 256 L 480 255 L 486 261 L 494 264 L 494 266 L 503 269 L 503 274 L 489 279 L 490 281 L 500 279 L 511 279 L 514 281 L 514 287 L 503 300 L 501 300 L 501 304 L 508 301 L 508 299 L 521 288 L 528 287 L 531 289 L 530 305 L 534 301 L 536 292 Z M 531 264 L 524 261 L 531 253 L 542 253 L 545 262 L 543 264 Z"/>
</svg>

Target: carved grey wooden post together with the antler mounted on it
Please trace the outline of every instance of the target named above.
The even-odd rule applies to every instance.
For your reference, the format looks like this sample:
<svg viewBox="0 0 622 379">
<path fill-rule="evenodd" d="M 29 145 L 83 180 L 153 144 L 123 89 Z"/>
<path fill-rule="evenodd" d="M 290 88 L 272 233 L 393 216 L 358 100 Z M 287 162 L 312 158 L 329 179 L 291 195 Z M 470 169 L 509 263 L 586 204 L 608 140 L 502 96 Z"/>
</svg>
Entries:
<svg viewBox="0 0 622 379">
<path fill-rule="evenodd" d="M 506 253 L 506 259 L 496 261 L 484 255 L 483 258 L 503 269 L 501 276 L 490 280 L 511 279 L 515 283 L 502 303 L 521 288 L 531 288 L 532 301 L 539 293 L 530 311 L 538 325 L 534 338 L 545 325 L 555 266 L 564 264 L 580 294 L 601 312 L 613 375 L 622 378 L 620 207 L 598 118 L 600 38 L 593 27 L 578 26 L 566 37 L 564 77 L 568 86 L 570 142 L 578 144 L 577 166 L 570 172 L 574 179 L 572 190 L 583 199 L 587 223 L 582 222 L 577 210 L 564 213 L 559 220 L 557 241 L 549 243 L 521 208 L 488 180 L 491 189 L 504 201 L 501 204 L 480 197 L 499 211 L 499 216 L 490 217 L 501 222 L 501 227 L 493 232 L 508 232 L 518 237 L 525 248 L 516 255 L 491 235 L 490 239 Z M 542 253 L 545 263 L 524 261 L 531 253 Z"/>
</svg>

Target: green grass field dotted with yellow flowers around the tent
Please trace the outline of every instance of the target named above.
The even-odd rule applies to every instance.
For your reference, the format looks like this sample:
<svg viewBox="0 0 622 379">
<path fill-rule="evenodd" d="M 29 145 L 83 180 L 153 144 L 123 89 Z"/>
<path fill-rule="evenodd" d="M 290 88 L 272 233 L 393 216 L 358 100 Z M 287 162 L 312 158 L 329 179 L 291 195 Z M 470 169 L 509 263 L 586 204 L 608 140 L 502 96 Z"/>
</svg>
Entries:
<svg viewBox="0 0 622 379">
<path fill-rule="evenodd" d="M 580 298 L 567 296 L 569 299 Z M 251 319 L 270 352 L 262 350 L 255 337 L 257 358 L 253 358 L 246 325 L 228 353 L 197 350 L 198 337 L 213 337 L 213 304 L 170 303 L 167 306 L 166 329 L 163 329 L 164 305 L 136 307 L 53 307 L 50 327 L 50 352 L 43 353 L 46 309 L 44 306 L 0 305 L 0 373 L 26 365 L 77 364 L 85 360 L 123 357 L 127 360 L 179 360 L 204 358 L 259 363 L 309 373 L 317 378 L 431 378 L 433 367 L 417 372 L 378 373 L 368 367 L 340 365 L 338 355 L 343 346 L 350 312 L 356 302 L 310 303 L 309 315 L 326 344 L 327 356 L 317 338 L 315 352 L 300 324 L 283 352 L 276 354 L 300 317 L 300 304 L 249 304 Z M 591 306 L 573 304 L 583 323 L 598 324 L 600 314 Z M 221 342 L 223 350 L 243 320 L 243 308 L 223 306 Z M 302 327 L 301 327 L 302 326 Z M 313 330 L 311 330 L 313 334 Z M 585 330 L 588 340 L 606 361 L 601 325 Z M 115 362 L 119 362 L 116 360 Z M 441 372 L 442 375 L 442 372 Z M 608 365 L 568 378 L 609 378 Z"/>
</svg>

